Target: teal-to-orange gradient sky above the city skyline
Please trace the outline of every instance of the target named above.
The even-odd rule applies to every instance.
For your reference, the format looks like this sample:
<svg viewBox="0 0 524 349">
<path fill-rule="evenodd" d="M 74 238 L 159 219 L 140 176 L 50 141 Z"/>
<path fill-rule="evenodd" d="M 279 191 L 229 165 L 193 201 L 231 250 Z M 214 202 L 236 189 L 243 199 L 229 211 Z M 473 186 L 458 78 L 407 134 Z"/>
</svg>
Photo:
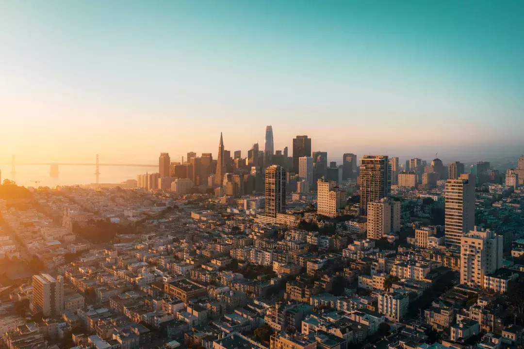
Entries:
<svg viewBox="0 0 524 349">
<path fill-rule="evenodd" d="M 0 161 L 524 149 L 522 1 L 0 2 Z M 441 155 L 442 154 L 442 155 Z M 473 156 L 473 155 L 472 155 Z M 462 157 L 456 160 L 462 160 Z"/>
</svg>

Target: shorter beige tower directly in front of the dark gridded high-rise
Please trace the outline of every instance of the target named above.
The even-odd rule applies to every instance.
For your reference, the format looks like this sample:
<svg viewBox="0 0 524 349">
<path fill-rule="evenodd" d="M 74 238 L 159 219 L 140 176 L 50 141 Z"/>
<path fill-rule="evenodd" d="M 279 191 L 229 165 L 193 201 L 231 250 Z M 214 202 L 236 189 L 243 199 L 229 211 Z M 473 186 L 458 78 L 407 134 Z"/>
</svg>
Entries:
<svg viewBox="0 0 524 349">
<path fill-rule="evenodd" d="M 367 204 L 367 238 L 379 240 L 400 231 L 400 201 L 382 198 Z"/>
</svg>

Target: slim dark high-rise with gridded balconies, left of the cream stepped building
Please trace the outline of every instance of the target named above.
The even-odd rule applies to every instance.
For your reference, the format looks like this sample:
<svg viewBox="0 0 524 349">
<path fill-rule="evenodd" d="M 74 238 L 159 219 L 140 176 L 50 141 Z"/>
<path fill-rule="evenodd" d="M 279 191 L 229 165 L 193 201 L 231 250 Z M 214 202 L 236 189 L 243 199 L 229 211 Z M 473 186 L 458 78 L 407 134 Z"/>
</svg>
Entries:
<svg viewBox="0 0 524 349">
<path fill-rule="evenodd" d="M 271 165 L 266 168 L 266 216 L 277 217 L 286 213 L 286 168 Z"/>
</svg>

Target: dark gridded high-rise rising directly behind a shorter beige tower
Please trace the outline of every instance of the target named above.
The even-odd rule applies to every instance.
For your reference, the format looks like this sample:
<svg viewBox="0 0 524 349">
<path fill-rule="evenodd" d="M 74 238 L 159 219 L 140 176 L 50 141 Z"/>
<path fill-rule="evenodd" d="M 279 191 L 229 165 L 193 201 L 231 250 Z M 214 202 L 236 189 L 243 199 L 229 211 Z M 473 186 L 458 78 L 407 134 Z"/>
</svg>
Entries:
<svg viewBox="0 0 524 349">
<path fill-rule="evenodd" d="M 361 215 L 366 216 L 368 202 L 389 196 L 391 177 L 386 155 L 364 155 L 360 167 Z"/>
</svg>

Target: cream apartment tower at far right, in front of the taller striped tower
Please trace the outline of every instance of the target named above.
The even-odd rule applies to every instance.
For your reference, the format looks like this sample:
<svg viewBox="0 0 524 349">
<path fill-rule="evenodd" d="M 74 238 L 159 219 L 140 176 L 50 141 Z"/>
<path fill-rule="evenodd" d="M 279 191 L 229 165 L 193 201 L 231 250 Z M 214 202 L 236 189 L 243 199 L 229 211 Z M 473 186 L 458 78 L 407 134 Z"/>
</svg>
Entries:
<svg viewBox="0 0 524 349">
<path fill-rule="evenodd" d="M 484 276 L 502 267 L 503 237 L 492 231 L 475 230 L 460 240 L 460 283 L 484 288 Z"/>
</svg>

